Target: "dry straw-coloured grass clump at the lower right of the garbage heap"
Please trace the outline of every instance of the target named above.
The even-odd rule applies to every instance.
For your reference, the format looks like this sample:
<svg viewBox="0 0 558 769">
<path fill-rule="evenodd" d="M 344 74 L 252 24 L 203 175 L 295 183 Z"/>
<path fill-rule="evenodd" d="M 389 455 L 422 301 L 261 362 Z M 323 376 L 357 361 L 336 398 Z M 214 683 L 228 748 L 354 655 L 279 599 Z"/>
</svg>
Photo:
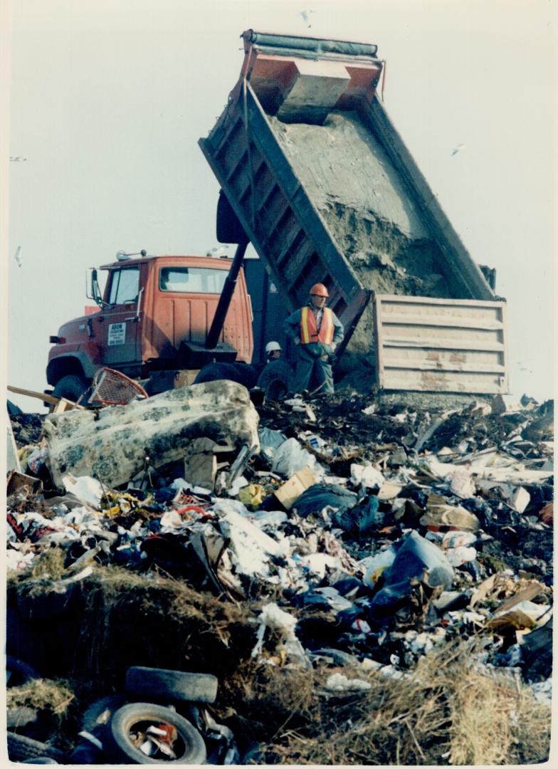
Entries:
<svg viewBox="0 0 558 769">
<path fill-rule="evenodd" d="M 327 694 L 321 687 L 325 674 L 317 674 L 311 701 L 307 678 L 299 674 L 298 710 L 286 679 L 271 681 L 262 705 L 272 701 L 277 710 L 281 703 L 287 718 L 267 742 L 267 761 L 385 765 L 545 761 L 550 708 L 537 704 L 526 687 L 475 670 L 472 654 L 472 644 L 444 648 L 424 657 L 414 675 L 400 681 L 378 673 L 360 675 L 372 688 L 359 695 Z"/>
</svg>

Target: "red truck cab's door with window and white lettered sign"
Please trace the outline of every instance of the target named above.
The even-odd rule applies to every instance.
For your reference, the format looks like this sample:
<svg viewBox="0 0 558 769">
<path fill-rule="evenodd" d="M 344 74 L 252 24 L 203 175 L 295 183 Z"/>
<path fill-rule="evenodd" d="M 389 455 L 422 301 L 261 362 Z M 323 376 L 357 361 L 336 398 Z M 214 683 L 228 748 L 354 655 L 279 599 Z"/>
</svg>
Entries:
<svg viewBox="0 0 558 769">
<path fill-rule="evenodd" d="M 103 362 L 118 368 L 139 362 L 141 308 L 138 265 L 111 270 L 108 278 L 108 307 L 95 315 L 95 331 L 102 339 Z M 139 304 L 138 304 L 139 302 Z"/>
</svg>

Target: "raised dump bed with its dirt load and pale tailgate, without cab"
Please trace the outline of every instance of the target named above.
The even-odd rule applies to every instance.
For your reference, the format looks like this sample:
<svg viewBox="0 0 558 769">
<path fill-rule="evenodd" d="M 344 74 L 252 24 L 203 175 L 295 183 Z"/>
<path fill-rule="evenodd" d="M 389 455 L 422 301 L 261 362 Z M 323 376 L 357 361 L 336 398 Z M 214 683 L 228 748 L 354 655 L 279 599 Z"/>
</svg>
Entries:
<svg viewBox="0 0 558 769">
<path fill-rule="evenodd" d="M 338 355 L 385 390 L 507 392 L 506 304 L 378 98 L 377 46 L 243 33 L 241 75 L 201 150 L 285 311 L 323 283 Z M 225 208 L 225 206 L 224 206 Z M 229 234 L 227 235 L 227 221 Z"/>
</svg>

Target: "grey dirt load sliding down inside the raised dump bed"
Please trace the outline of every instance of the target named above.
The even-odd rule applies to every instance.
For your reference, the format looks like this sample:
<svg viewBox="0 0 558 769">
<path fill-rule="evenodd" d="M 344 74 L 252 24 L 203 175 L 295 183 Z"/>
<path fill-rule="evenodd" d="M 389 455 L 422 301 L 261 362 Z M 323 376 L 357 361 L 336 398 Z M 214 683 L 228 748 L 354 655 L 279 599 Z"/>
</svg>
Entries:
<svg viewBox="0 0 558 769">
<path fill-rule="evenodd" d="M 332 112 L 324 125 L 270 121 L 337 248 L 365 288 L 381 294 L 455 295 L 438 266 L 440 249 L 420 221 L 404 181 L 356 113 Z M 366 355 L 372 349 L 373 315 L 367 308 L 348 351 Z"/>
</svg>

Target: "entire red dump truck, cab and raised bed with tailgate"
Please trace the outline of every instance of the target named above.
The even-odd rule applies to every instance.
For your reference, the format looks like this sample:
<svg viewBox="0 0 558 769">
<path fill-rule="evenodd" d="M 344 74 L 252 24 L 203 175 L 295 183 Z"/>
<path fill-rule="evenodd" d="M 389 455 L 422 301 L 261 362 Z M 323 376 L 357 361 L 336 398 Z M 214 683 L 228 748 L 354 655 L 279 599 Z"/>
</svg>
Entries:
<svg viewBox="0 0 558 769">
<path fill-rule="evenodd" d="M 234 259 L 121 254 L 104 266 L 102 295 L 92 270 L 99 310 L 51 337 L 54 394 L 75 400 L 104 366 L 147 379 L 150 393 L 215 378 L 268 397 L 287 390 L 284 361 L 264 372 L 253 356 L 249 241 L 268 278 L 254 297 L 260 353 L 319 282 L 344 325 L 337 359 L 371 365 L 378 387 L 506 392 L 505 302 L 377 97 L 377 46 L 254 30 L 242 39 L 240 77 L 199 141 L 221 187 L 218 241 L 237 244 Z"/>
</svg>

